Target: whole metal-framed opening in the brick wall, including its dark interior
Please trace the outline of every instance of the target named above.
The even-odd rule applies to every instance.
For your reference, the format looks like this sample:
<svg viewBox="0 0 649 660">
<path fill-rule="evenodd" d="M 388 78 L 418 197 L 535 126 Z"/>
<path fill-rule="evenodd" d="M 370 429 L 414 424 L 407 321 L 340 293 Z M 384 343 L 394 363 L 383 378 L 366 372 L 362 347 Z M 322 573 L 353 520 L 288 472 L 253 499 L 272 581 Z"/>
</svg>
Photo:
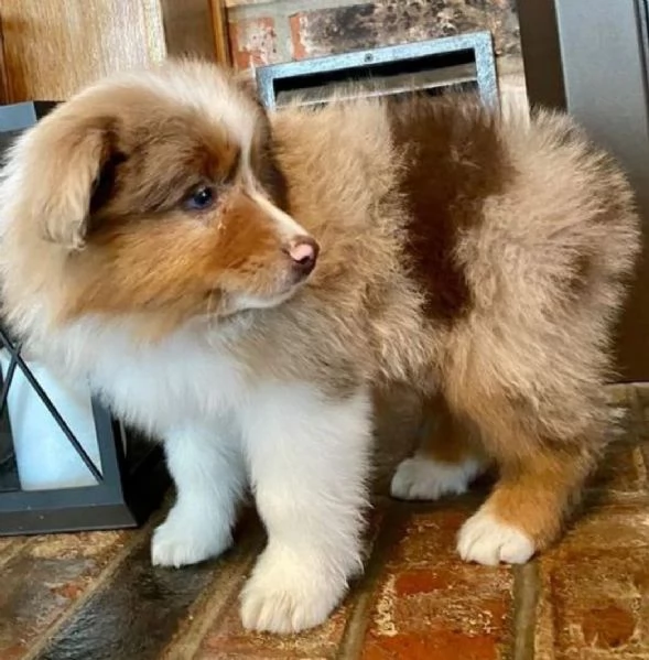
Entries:
<svg viewBox="0 0 649 660">
<path fill-rule="evenodd" d="M 477 88 L 484 102 L 498 104 L 496 61 L 489 32 L 474 32 L 396 46 L 313 57 L 259 67 L 257 87 L 263 105 L 316 105 L 336 89 L 351 96 L 387 96 L 448 87 Z"/>
</svg>

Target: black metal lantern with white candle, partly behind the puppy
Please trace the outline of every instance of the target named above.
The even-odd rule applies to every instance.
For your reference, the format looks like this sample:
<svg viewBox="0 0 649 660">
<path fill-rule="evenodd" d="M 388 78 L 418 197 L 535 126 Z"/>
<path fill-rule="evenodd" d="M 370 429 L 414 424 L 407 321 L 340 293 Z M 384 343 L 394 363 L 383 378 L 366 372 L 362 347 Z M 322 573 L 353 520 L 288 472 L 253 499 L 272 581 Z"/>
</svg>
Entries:
<svg viewBox="0 0 649 660">
<path fill-rule="evenodd" d="M 54 105 L 0 108 L 0 148 Z M 136 527 L 169 484 L 159 444 L 25 359 L 0 325 L 0 535 Z"/>
</svg>

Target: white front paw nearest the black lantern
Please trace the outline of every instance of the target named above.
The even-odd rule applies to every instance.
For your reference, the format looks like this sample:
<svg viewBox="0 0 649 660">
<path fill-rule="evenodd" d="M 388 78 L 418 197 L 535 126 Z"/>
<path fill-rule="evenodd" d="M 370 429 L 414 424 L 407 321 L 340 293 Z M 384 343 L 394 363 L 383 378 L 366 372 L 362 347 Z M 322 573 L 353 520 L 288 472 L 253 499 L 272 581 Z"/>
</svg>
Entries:
<svg viewBox="0 0 649 660">
<path fill-rule="evenodd" d="M 172 510 L 155 529 L 151 541 L 151 561 L 154 566 L 179 569 L 217 556 L 232 542 L 229 527 L 192 517 L 184 518 Z"/>
</svg>

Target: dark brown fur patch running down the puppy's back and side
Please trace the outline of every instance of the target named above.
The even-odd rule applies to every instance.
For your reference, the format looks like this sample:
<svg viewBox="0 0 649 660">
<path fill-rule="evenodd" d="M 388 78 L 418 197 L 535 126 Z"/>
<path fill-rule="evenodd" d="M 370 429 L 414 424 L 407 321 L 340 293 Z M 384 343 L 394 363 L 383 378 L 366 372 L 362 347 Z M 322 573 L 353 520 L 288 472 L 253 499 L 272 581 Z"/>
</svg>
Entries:
<svg viewBox="0 0 649 660">
<path fill-rule="evenodd" d="M 511 181 L 511 164 L 487 113 L 463 121 L 452 101 L 390 100 L 394 148 L 404 156 L 401 190 L 410 210 L 412 273 L 426 292 L 426 311 L 463 316 L 472 292 L 456 256 L 462 232 L 482 223 L 482 205 Z"/>
</svg>

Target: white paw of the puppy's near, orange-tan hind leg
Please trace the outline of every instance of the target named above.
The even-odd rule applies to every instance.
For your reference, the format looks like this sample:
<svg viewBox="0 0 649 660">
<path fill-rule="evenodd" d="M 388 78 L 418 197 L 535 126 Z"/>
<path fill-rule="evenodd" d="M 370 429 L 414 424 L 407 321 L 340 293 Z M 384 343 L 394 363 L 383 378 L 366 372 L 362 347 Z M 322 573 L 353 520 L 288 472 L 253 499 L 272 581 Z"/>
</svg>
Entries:
<svg viewBox="0 0 649 660">
<path fill-rule="evenodd" d="M 459 556 L 467 562 L 495 566 L 500 562 L 524 564 L 536 552 L 533 541 L 520 529 L 499 522 L 480 509 L 459 530 Z"/>
</svg>

